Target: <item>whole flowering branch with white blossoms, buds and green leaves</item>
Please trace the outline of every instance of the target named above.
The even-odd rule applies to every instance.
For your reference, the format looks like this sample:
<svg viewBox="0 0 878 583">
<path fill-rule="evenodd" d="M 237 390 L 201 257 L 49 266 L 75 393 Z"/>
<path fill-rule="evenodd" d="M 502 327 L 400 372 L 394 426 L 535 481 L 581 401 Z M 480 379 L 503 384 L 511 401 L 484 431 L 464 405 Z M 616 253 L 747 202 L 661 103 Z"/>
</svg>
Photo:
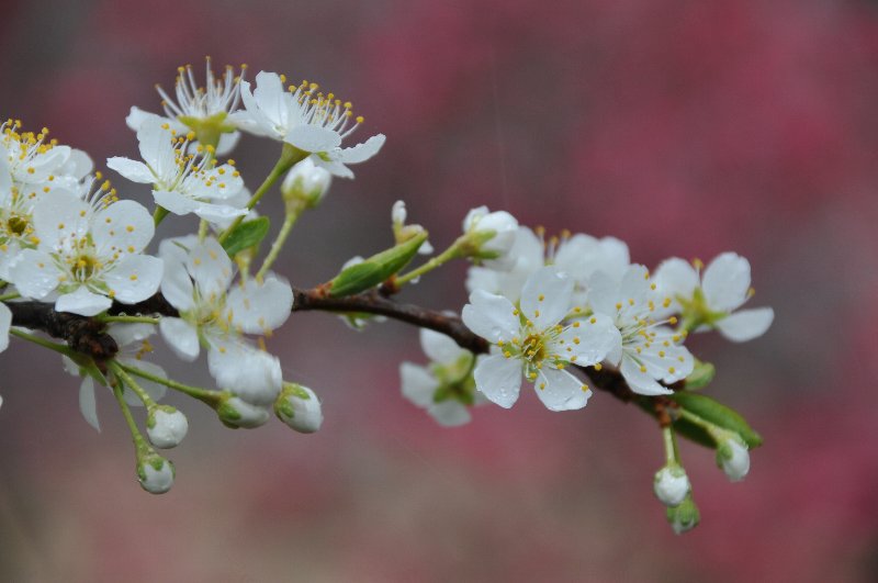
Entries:
<svg viewBox="0 0 878 583">
<path fill-rule="evenodd" d="M 284 379 L 267 346 L 293 311 L 306 309 L 340 315 L 357 329 L 386 317 L 420 326 L 429 362 L 401 365 L 402 394 L 444 426 L 469 423 L 476 405 L 511 407 L 524 383 L 552 412 L 579 410 L 612 379 L 624 400 L 660 422 L 666 464 L 654 492 L 677 531 L 698 522 L 677 433 L 714 448 L 732 480 L 747 473 L 759 438 L 734 412 L 694 392 L 712 367 L 686 346 L 697 333 L 744 341 L 767 330 L 769 307 L 742 309 L 753 295 L 746 259 L 725 253 L 705 267 L 671 258 L 651 272 L 632 264 L 617 238 L 565 232 L 547 240 L 543 229 L 486 206 L 470 210 L 460 236 L 435 253 L 398 201 L 392 247 L 294 291 L 271 269 L 291 229 L 322 202 L 333 177 L 353 178 L 349 165 L 379 153 L 384 135 L 351 145 L 363 117 L 312 81 L 288 86 L 283 75 L 261 71 L 251 85 L 246 67 L 215 76 L 210 59 L 204 86 L 191 67 L 178 72 L 173 97 L 159 88 L 162 113 L 132 108 L 125 120 L 139 159 L 106 160 L 123 190 L 149 186 L 151 212 L 121 198 L 86 153 L 49 139 L 45 128 L 24 132 L 10 120 L 0 138 L 0 351 L 13 335 L 60 352 L 65 369 L 81 377 L 79 408 L 95 429 L 99 388 L 108 388 L 131 429 L 145 490 L 171 487 L 175 468 L 156 448 L 176 447 L 189 430 L 182 412 L 159 404 L 169 390 L 211 406 L 229 427 L 258 427 L 273 410 L 297 431 L 319 429 L 319 399 Z M 274 168 L 252 190 L 225 158 L 241 134 L 280 146 Z M 284 220 L 257 268 L 271 225 L 256 206 L 274 184 Z M 191 234 L 154 242 L 171 215 L 192 221 Z M 418 255 L 429 257 L 405 271 Z M 455 259 L 471 262 L 460 314 L 394 303 L 405 285 Z M 99 337 L 81 343 L 56 328 L 25 329 L 16 313 L 33 305 L 87 322 Z M 68 344 L 34 334 L 41 330 Z M 215 386 L 170 379 L 150 360 L 156 334 L 185 362 L 206 355 Z M 108 338 L 110 348 L 94 348 Z M 146 437 L 132 406 L 146 408 Z"/>
</svg>

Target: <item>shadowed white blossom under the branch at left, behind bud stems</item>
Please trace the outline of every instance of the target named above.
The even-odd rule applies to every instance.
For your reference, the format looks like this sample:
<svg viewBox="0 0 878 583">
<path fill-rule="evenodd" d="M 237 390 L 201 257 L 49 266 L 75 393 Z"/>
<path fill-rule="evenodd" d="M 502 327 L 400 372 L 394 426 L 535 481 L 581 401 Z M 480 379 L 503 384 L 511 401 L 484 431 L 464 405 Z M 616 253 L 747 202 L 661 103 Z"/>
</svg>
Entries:
<svg viewBox="0 0 878 583">
<path fill-rule="evenodd" d="M 119 347 L 115 360 L 121 365 L 140 369 L 154 377 L 167 379 L 168 374 L 165 372 L 165 369 L 154 362 L 143 359 L 144 356 L 153 351 L 153 345 L 149 344 L 147 338 L 155 334 L 155 332 L 156 327 L 151 324 L 111 323 L 108 326 L 106 334 L 116 341 L 116 346 Z M 75 377 L 82 377 L 82 382 L 79 384 L 79 412 L 89 425 L 100 431 L 101 424 L 98 419 L 94 380 L 69 358 L 63 357 L 63 361 L 64 369 L 67 372 Z M 137 379 L 137 384 L 153 401 L 160 401 L 168 391 L 168 388 L 164 384 L 148 379 Z M 122 396 L 131 406 L 139 407 L 144 404 L 137 394 L 128 388 L 125 388 Z"/>
</svg>

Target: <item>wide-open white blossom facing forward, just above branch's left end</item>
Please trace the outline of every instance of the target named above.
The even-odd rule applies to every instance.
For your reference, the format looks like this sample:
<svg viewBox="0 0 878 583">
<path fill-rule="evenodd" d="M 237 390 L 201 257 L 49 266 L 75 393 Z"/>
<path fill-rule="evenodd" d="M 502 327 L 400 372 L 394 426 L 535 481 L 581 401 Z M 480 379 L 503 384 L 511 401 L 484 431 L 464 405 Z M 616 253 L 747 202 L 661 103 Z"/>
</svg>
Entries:
<svg viewBox="0 0 878 583">
<path fill-rule="evenodd" d="M 93 316 L 113 300 L 133 304 L 158 290 L 161 260 L 142 255 L 155 226 L 139 203 L 56 191 L 34 209 L 33 227 L 36 249 L 23 249 L 10 268 L 22 296 L 54 292 L 57 311 Z"/>
</svg>

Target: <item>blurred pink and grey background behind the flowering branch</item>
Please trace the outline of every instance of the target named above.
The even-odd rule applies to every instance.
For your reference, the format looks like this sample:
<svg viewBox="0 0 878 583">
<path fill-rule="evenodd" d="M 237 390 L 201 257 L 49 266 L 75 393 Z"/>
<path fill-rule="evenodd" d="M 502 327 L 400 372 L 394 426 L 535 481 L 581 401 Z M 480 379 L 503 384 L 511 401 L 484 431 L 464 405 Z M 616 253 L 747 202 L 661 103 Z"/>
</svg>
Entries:
<svg viewBox="0 0 878 583">
<path fill-rule="evenodd" d="M 110 395 L 95 434 L 78 381 L 14 341 L 0 355 L 0 580 L 878 580 L 875 2 L 1 5 L 0 115 L 99 167 L 136 157 L 131 105 L 158 111 L 154 83 L 170 89 L 205 55 L 352 100 L 360 136 L 387 144 L 296 227 L 279 269 L 297 285 L 385 247 L 397 199 L 437 247 L 487 204 L 550 233 L 621 237 L 649 266 L 741 253 L 776 322 L 745 345 L 691 341 L 718 366 L 710 394 L 765 446 L 734 484 L 684 446 L 702 524 L 682 537 L 652 496 L 662 446 L 639 411 L 597 394 L 553 414 L 525 393 L 443 430 L 399 396 L 399 361 L 424 361 L 401 324 L 354 334 L 296 314 L 270 340 L 286 377 L 320 394 L 317 435 L 232 431 L 171 399 L 191 429 L 164 496 L 137 486 Z M 256 186 L 277 144 L 245 137 L 234 157 Z M 160 236 L 179 232 L 168 223 Z M 404 299 L 459 310 L 464 272 Z M 203 363 L 170 368 L 210 382 Z"/>
</svg>

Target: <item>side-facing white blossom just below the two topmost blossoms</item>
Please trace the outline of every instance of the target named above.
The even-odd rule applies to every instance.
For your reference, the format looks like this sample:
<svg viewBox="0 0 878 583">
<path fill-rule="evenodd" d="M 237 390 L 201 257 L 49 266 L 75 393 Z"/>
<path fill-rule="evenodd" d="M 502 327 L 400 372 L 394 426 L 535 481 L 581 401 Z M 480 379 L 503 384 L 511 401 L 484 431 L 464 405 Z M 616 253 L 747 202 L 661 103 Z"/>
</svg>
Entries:
<svg viewBox="0 0 878 583">
<path fill-rule="evenodd" d="M 189 154 L 185 137 L 159 120 L 144 123 L 137 139 L 144 161 L 116 156 L 109 158 L 106 166 L 133 182 L 153 184 L 156 204 L 173 214 L 194 213 L 211 222 L 247 214 L 247 209 L 229 204 L 244 188 L 234 166 L 216 166 L 212 157 Z"/>
</svg>

